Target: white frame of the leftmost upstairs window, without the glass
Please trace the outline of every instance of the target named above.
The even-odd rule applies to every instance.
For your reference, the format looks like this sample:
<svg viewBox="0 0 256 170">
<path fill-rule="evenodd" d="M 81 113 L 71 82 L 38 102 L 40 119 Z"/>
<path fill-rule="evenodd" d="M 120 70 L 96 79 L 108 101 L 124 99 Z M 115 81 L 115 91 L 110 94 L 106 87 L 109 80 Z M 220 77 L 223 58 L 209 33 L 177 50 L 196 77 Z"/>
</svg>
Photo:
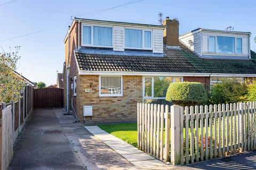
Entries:
<svg viewBox="0 0 256 170">
<path fill-rule="evenodd" d="M 91 44 L 84 44 L 84 29 L 83 27 L 91 27 Z M 111 37 L 111 46 L 98 46 L 98 45 L 93 45 L 93 27 L 108 27 L 112 29 L 112 37 Z M 99 25 L 99 24 L 81 24 L 81 46 L 86 46 L 86 47 L 103 47 L 103 48 L 113 48 L 113 27 L 109 25 Z"/>
</svg>

